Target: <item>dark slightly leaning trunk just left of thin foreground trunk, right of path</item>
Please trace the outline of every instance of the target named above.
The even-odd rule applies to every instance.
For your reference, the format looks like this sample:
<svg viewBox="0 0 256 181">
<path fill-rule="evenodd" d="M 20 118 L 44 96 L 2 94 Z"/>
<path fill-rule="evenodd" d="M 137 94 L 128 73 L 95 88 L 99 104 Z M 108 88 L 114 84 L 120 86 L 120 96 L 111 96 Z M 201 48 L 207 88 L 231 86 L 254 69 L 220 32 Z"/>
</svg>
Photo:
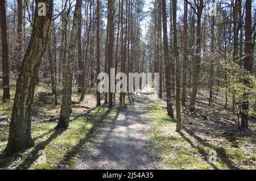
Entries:
<svg viewBox="0 0 256 181">
<path fill-rule="evenodd" d="M 166 73 L 167 114 L 168 116 L 174 117 L 174 110 L 172 109 L 172 102 L 171 102 L 171 64 L 169 61 L 169 53 L 168 53 L 166 11 L 163 11 L 163 44 L 164 44 L 164 64 L 165 64 L 165 70 L 166 70 L 165 73 Z"/>
</svg>

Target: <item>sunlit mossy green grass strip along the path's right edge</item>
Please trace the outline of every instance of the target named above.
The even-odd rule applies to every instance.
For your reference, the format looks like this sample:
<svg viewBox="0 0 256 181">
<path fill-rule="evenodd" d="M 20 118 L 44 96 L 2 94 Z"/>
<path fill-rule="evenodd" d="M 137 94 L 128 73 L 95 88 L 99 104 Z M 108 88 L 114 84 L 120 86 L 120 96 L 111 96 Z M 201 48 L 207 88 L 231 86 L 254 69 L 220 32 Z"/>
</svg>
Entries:
<svg viewBox="0 0 256 181">
<path fill-rule="evenodd" d="M 175 132 L 175 120 L 167 116 L 157 103 L 150 103 L 149 112 L 152 121 L 148 136 L 153 142 L 160 163 L 167 169 L 255 169 L 255 166 L 234 165 L 234 159 L 242 161 L 246 157 L 239 148 L 210 145 L 187 131 Z M 208 161 L 210 149 L 217 152 L 217 162 L 214 165 Z"/>
</svg>

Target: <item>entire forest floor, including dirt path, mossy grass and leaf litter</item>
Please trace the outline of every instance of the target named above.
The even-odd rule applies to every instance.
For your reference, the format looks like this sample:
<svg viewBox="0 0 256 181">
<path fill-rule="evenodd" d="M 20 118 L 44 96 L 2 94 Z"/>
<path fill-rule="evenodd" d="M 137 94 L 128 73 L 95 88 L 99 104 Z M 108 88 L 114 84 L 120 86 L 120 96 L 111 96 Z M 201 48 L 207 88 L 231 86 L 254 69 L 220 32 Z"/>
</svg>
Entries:
<svg viewBox="0 0 256 181">
<path fill-rule="evenodd" d="M 1 82 L 0 82 L 1 85 Z M 185 117 L 181 133 L 166 115 L 166 103 L 147 91 L 127 96 L 126 107 L 95 107 L 95 90 L 84 102 L 72 95 L 69 128 L 55 131 L 60 102 L 55 106 L 46 82 L 36 86 L 32 113 L 31 149 L 3 157 L 7 144 L 11 102 L 0 104 L 0 169 L 256 169 L 256 123 L 240 136 L 230 113 L 201 101 L 197 115 Z M 58 85 L 61 95 L 61 84 Z M 11 95 L 15 81 L 11 81 Z M 0 86 L 0 94 L 2 87 Z M 201 116 L 207 115 L 207 116 Z M 46 152 L 41 163 L 39 150 Z M 216 151 L 216 163 L 208 160 Z"/>
</svg>

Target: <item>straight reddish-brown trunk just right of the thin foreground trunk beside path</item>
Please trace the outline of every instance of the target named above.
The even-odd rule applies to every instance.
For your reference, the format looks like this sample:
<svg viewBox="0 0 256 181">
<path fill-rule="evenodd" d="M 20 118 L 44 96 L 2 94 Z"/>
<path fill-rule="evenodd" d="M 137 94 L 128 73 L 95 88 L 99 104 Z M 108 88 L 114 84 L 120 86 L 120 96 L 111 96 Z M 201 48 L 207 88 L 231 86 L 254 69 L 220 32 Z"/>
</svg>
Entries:
<svg viewBox="0 0 256 181">
<path fill-rule="evenodd" d="M 181 105 L 186 102 L 186 81 L 187 81 L 187 34 L 188 34 L 188 0 L 184 0 L 184 27 L 183 27 L 183 77 L 182 77 L 182 96 Z"/>
</svg>

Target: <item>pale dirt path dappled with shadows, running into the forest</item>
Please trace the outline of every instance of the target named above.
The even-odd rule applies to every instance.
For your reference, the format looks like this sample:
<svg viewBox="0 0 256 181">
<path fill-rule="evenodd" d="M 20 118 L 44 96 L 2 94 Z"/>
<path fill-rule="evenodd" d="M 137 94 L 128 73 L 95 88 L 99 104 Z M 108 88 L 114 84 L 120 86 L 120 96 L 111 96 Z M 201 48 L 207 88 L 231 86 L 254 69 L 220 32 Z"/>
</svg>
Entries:
<svg viewBox="0 0 256 181">
<path fill-rule="evenodd" d="M 150 96 L 141 91 L 134 103 L 97 133 L 90 151 L 84 150 L 76 169 L 159 169 L 147 137 Z"/>
</svg>

